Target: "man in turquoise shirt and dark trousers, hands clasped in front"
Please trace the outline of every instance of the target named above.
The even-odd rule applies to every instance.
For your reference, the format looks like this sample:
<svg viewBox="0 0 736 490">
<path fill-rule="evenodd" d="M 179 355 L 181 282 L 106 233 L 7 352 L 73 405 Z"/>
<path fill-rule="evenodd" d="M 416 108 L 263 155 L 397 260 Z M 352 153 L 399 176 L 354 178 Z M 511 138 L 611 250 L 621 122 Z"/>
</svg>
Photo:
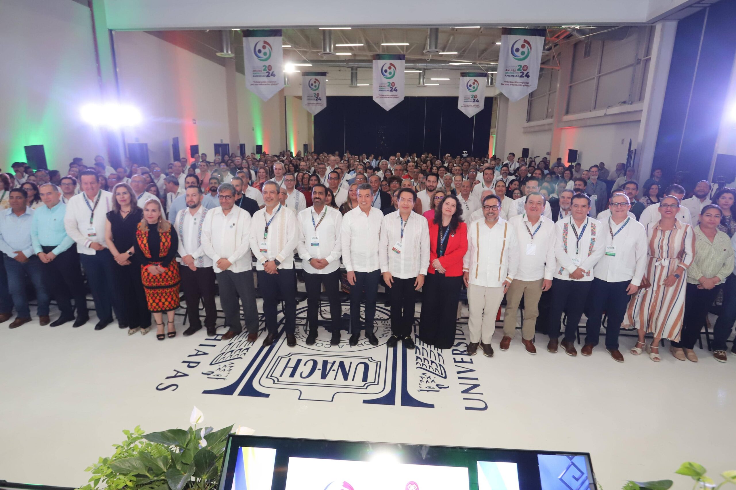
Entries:
<svg viewBox="0 0 736 490">
<path fill-rule="evenodd" d="M 74 320 L 74 306 L 77 307 L 77 321 L 74 327 L 85 324 L 89 319 L 85 283 L 79 267 L 79 254 L 74 240 L 66 234 L 64 215 L 66 204 L 61 202 L 61 193 L 54 184 L 41 185 L 38 189 L 43 206 L 33 213 L 31 222 L 31 241 L 33 250 L 41 261 L 43 283 L 56 298 L 61 312 L 52 327 L 58 327 Z"/>
</svg>

